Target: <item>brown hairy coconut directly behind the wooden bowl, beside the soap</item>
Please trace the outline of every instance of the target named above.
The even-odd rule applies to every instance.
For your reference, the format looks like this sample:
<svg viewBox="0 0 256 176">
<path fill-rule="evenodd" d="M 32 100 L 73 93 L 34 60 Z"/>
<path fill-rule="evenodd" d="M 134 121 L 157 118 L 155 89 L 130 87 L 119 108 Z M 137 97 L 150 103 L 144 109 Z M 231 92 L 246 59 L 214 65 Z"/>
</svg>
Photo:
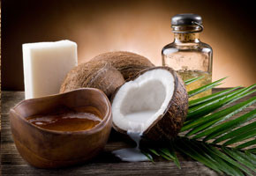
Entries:
<svg viewBox="0 0 256 176">
<path fill-rule="evenodd" d="M 102 90 L 110 98 L 112 92 L 115 92 L 121 84 L 124 84 L 124 77 L 114 67 L 107 63 L 102 65 L 86 62 L 79 64 L 68 73 L 61 85 L 60 93 L 92 87 Z"/>
</svg>

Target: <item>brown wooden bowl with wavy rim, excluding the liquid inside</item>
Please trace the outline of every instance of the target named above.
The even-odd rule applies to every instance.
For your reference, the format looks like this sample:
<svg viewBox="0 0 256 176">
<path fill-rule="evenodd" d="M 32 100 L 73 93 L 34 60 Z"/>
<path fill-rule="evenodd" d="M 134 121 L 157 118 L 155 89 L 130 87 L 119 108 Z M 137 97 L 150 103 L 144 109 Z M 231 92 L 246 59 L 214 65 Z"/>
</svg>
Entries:
<svg viewBox="0 0 256 176">
<path fill-rule="evenodd" d="M 102 121 L 84 131 L 55 131 L 26 120 L 52 113 L 59 106 L 71 109 L 93 106 L 102 114 Z M 112 125 L 109 99 L 94 88 L 23 100 L 11 108 L 10 120 L 12 137 L 21 157 L 39 168 L 75 165 L 94 158 L 107 143 Z"/>
</svg>

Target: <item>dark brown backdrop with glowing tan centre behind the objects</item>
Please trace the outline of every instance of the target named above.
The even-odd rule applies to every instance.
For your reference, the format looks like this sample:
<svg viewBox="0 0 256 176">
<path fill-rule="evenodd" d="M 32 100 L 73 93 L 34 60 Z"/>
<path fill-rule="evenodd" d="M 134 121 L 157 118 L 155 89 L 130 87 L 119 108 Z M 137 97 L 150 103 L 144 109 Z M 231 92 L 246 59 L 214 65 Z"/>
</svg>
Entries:
<svg viewBox="0 0 256 176">
<path fill-rule="evenodd" d="M 21 45 L 73 40 L 79 62 L 114 50 L 147 56 L 161 65 L 161 50 L 173 40 L 170 18 L 198 13 L 200 38 L 214 49 L 213 78 L 230 76 L 222 86 L 256 82 L 253 1 L 2 1 L 2 89 L 24 90 Z"/>
</svg>

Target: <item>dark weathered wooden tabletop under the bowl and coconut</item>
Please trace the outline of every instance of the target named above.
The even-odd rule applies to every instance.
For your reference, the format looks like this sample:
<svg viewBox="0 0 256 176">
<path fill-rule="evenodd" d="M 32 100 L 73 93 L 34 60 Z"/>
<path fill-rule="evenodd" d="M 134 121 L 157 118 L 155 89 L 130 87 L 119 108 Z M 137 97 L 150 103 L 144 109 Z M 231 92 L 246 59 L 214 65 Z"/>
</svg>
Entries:
<svg viewBox="0 0 256 176">
<path fill-rule="evenodd" d="M 218 92 L 222 89 L 215 89 Z M 256 93 L 248 96 L 249 99 L 256 96 Z M 217 175 L 216 172 L 186 158 L 177 153 L 181 163 L 181 169 L 178 169 L 173 162 L 168 162 L 162 158 L 156 158 L 155 163 L 139 162 L 126 163 L 121 162 L 118 158 L 111 154 L 112 150 L 131 147 L 132 142 L 124 141 L 124 138 L 111 134 L 109 142 L 102 153 L 94 160 L 83 165 L 76 165 L 68 168 L 56 170 L 43 170 L 28 165 L 25 160 L 19 156 L 15 144 L 12 141 L 9 110 L 19 101 L 24 99 L 24 92 L 2 92 L 2 134 L 1 134 L 1 172 L 0 175 Z M 240 99 L 240 101 L 245 100 Z M 232 106 L 230 104 L 229 106 Z M 256 106 L 245 108 L 244 112 L 254 109 Z M 240 115 L 240 114 L 237 114 Z M 113 137 L 114 136 L 114 137 Z"/>
</svg>

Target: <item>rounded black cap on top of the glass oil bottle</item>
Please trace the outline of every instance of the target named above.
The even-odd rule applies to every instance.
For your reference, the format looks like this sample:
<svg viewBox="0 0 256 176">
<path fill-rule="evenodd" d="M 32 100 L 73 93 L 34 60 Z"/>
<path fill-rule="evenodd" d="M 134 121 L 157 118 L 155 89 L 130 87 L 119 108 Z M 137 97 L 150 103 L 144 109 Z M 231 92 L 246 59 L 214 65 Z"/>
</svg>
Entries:
<svg viewBox="0 0 256 176">
<path fill-rule="evenodd" d="M 177 14 L 171 18 L 171 25 L 174 26 L 186 26 L 186 25 L 198 25 L 202 24 L 202 18 L 200 15 L 192 13 Z"/>
</svg>

